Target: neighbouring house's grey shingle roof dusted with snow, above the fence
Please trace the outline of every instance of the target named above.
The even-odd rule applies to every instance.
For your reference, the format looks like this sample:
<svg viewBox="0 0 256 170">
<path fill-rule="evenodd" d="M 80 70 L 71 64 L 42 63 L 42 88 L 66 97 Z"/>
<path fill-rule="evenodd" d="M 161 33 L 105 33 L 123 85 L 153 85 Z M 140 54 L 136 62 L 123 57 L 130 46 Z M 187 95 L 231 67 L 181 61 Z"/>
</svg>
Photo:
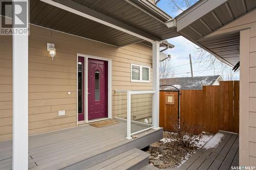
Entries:
<svg viewBox="0 0 256 170">
<path fill-rule="evenodd" d="M 167 78 L 160 79 L 161 85 L 173 85 L 180 90 L 201 90 L 203 86 L 214 84 L 218 76 L 199 76 L 199 77 L 182 77 L 182 78 Z M 165 87 L 164 89 L 175 89 L 172 87 Z"/>
</svg>

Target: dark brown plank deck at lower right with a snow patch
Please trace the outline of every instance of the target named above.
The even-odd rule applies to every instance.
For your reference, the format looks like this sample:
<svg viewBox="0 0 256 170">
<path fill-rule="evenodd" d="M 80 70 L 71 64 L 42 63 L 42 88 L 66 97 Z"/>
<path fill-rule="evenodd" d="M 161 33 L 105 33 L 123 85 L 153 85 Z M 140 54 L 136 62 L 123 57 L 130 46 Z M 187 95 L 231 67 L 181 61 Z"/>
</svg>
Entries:
<svg viewBox="0 0 256 170">
<path fill-rule="evenodd" d="M 222 137 L 221 137 L 222 136 Z M 221 142 L 213 143 L 221 137 Z M 239 166 L 239 135 L 219 131 L 204 147 L 199 149 L 176 170 L 227 170 Z"/>
</svg>

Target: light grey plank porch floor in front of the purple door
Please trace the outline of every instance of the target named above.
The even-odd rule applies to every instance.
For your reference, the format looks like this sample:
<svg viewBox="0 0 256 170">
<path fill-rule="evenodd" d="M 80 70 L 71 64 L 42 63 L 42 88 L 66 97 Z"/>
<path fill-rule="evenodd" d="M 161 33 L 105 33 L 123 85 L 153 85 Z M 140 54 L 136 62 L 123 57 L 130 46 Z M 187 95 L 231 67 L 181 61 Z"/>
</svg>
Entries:
<svg viewBox="0 0 256 170">
<path fill-rule="evenodd" d="M 143 129 L 140 125 L 132 127 Z M 162 129 L 152 129 L 127 140 L 126 123 L 120 122 L 103 128 L 86 125 L 29 136 L 29 168 L 79 169 L 84 164 L 90 167 L 132 148 L 142 149 L 158 141 L 161 133 Z M 0 169 L 12 169 L 12 140 L 0 142 Z"/>
</svg>

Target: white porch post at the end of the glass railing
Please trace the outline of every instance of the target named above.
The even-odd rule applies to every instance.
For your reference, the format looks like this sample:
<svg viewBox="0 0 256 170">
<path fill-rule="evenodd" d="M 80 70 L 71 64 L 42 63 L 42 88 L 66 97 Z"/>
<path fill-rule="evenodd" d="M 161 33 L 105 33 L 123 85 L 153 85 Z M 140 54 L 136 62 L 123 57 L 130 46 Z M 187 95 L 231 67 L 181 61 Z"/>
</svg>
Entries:
<svg viewBox="0 0 256 170">
<path fill-rule="evenodd" d="M 160 85 L 160 78 L 159 78 L 159 52 L 160 52 L 160 42 L 155 41 L 152 43 L 153 49 L 153 90 L 155 94 L 153 95 L 153 126 L 154 129 L 159 128 L 159 85 Z"/>
</svg>

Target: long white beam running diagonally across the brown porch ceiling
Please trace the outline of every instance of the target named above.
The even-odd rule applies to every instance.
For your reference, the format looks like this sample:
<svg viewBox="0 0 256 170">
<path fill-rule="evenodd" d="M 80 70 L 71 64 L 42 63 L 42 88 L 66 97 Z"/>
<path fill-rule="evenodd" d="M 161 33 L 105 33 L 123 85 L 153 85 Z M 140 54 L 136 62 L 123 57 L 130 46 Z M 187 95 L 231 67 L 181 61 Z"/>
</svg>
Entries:
<svg viewBox="0 0 256 170">
<path fill-rule="evenodd" d="M 54 2 L 54 1 L 52 1 L 52 0 L 40 0 L 40 1 L 41 1 L 41 2 L 44 2 L 44 3 L 47 3 L 47 4 L 50 4 L 50 5 L 54 6 L 54 7 L 60 8 L 60 9 L 62 9 L 62 10 L 71 12 L 71 13 L 73 13 L 73 14 L 82 16 L 82 17 L 84 17 L 84 18 L 91 19 L 91 20 L 96 21 L 96 22 L 98 22 L 98 23 L 101 23 L 101 24 L 103 24 L 103 25 L 105 25 L 105 26 L 109 26 L 109 27 L 111 27 L 111 28 L 117 29 L 117 30 L 122 31 L 122 32 L 124 32 L 124 33 L 127 33 L 127 34 L 133 35 L 133 36 L 135 36 L 135 37 L 141 38 L 141 39 L 143 39 L 143 40 L 146 40 L 146 41 L 149 41 L 149 42 L 154 42 L 154 41 L 156 41 L 156 40 L 153 40 L 153 39 L 151 39 L 151 38 L 142 36 L 142 35 L 140 35 L 140 34 L 138 34 L 138 33 L 135 33 L 135 32 L 132 32 L 132 31 L 130 31 L 130 30 L 127 30 L 127 29 L 125 29 L 125 28 L 116 26 L 116 25 L 114 25 L 113 23 L 106 22 L 106 21 L 104 21 L 104 20 L 102 20 L 102 19 L 99 19 L 99 18 L 97 18 L 97 17 L 88 15 L 88 14 L 86 14 L 86 13 L 80 12 L 80 11 L 75 10 L 75 9 L 73 9 L 73 8 L 70 8 L 70 7 L 68 7 L 68 6 L 65 6 L 65 5 L 62 5 L 62 4 L 60 4 L 60 3 Z"/>
</svg>

